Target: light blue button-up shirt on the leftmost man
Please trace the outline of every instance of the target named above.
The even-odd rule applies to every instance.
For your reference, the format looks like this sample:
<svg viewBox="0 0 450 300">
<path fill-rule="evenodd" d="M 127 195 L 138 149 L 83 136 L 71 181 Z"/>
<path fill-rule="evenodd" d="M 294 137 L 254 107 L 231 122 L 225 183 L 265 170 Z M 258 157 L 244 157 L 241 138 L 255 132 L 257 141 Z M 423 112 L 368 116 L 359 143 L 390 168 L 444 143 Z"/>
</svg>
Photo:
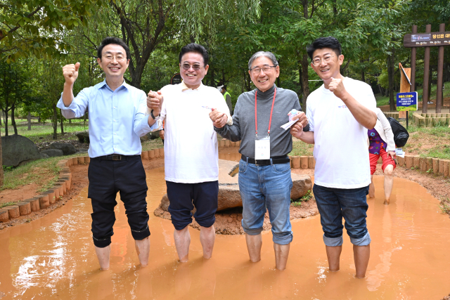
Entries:
<svg viewBox="0 0 450 300">
<path fill-rule="evenodd" d="M 89 110 L 89 157 L 140 155 L 139 137 L 158 129 L 158 122 L 148 126 L 146 93 L 125 82 L 115 91 L 106 81 L 83 89 L 68 107 L 61 96 L 56 107 L 66 119 Z"/>
</svg>

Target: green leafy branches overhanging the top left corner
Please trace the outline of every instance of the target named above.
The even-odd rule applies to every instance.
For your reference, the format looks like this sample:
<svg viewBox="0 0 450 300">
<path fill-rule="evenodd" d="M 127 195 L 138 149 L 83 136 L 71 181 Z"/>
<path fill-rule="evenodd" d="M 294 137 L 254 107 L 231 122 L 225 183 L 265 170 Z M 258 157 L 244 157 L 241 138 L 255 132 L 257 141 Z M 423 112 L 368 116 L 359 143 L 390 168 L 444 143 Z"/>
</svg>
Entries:
<svg viewBox="0 0 450 300">
<path fill-rule="evenodd" d="M 58 32 L 87 25 L 86 16 L 100 0 L 0 0 L 0 53 L 8 62 L 19 57 L 60 57 L 68 51 Z"/>
</svg>

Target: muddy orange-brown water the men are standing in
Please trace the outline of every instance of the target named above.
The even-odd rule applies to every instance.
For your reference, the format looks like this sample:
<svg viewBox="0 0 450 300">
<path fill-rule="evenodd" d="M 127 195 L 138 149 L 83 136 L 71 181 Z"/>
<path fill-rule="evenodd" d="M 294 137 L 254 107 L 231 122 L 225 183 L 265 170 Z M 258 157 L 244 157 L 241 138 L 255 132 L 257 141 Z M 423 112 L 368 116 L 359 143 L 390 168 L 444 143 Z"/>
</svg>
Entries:
<svg viewBox="0 0 450 300">
<path fill-rule="evenodd" d="M 165 194 L 164 169 L 148 171 L 147 181 L 151 212 Z M 281 272 L 274 268 L 271 233 L 263 233 L 262 261 L 250 263 L 243 235 L 217 235 L 212 259 L 204 260 L 199 231 L 189 228 L 190 261 L 179 263 L 172 223 L 150 213 L 150 262 L 141 268 L 119 200 L 111 267 L 101 271 L 84 188 L 51 214 L 0 231 L 0 299 L 442 299 L 450 292 L 449 216 L 416 183 L 394 178 L 389 206 L 383 205 L 383 177 L 375 176 L 375 187 L 363 280 L 354 278 L 346 234 L 341 270 L 328 271 L 319 216 L 293 221 L 288 267 Z"/>
</svg>

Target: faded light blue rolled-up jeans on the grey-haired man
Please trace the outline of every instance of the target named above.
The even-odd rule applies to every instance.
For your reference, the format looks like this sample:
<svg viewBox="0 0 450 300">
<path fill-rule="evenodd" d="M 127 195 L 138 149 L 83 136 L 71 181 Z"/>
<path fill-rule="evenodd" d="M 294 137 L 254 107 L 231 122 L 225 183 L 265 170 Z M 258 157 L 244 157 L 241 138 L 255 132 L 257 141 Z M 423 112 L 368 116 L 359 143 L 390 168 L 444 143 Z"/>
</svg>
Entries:
<svg viewBox="0 0 450 300">
<path fill-rule="evenodd" d="M 289 244 L 293 240 L 290 226 L 290 164 L 257 166 L 240 159 L 239 190 L 243 204 L 242 227 L 248 235 L 259 235 L 266 209 L 276 244 Z"/>
</svg>

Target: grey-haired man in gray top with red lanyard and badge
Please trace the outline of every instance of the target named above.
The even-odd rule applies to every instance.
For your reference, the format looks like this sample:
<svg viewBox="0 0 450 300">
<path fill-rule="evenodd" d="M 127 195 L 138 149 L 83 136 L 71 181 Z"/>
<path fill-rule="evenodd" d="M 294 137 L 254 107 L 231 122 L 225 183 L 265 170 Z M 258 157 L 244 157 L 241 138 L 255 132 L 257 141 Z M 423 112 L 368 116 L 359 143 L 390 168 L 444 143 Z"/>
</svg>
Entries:
<svg viewBox="0 0 450 300">
<path fill-rule="evenodd" d="M 272 225 L 276 268 L 284 270 L 288 261 L 293 233 L 290 225 L 290 160 L 293 141 L 281 125 L 289 121 L 288 112 L 300 111 L 297 94 L 278 88 L 278 61 L 271 52 L 259 51 L 248 62 L 250 78 L 257 87 L 239 96 L 234 109 L 233 125 L 217 128 L 223 115 L 213 110 L 214 129 L 224 138 L 241 141 L 239 152 L 239 190 L 243 201 L 242 226 L 250 261 L 261 260 L 262 225 L 266 209 Z M 307 127 L 304 112 L 298 124 Z M 307 128 L 305 128 L 307 130 Z"/>
</svg>

